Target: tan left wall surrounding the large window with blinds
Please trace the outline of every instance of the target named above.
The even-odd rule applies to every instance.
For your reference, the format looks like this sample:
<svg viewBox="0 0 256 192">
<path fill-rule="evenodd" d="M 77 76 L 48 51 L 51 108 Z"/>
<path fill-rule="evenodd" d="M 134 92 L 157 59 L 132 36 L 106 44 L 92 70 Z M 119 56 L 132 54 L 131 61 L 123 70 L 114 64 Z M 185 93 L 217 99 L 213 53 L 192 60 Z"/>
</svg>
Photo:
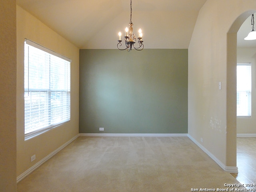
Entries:
<svg viewBox="0 0 256 192">
<path fill-rule="evenodd" d="M 24 141 L 24 38 L 70 59 L 71 120 Z M 79 49 L 17 6 L 17 176 L 78 134 Z M 30 157 L 36 154 L 36 160 Z"/>
</svg>

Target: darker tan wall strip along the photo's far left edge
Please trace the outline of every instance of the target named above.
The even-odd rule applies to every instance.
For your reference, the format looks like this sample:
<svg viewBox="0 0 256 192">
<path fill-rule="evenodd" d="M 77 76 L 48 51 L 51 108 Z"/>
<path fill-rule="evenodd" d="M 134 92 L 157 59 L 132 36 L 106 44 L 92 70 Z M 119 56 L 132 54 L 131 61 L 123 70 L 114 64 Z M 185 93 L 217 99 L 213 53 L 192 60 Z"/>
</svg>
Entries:
<svg viewBox="0 0 256 192">
<path fill-rule="evenodd" d="M 0 191 L 16 191 L 16 1 L 0 0 Z"/>
</svg>

